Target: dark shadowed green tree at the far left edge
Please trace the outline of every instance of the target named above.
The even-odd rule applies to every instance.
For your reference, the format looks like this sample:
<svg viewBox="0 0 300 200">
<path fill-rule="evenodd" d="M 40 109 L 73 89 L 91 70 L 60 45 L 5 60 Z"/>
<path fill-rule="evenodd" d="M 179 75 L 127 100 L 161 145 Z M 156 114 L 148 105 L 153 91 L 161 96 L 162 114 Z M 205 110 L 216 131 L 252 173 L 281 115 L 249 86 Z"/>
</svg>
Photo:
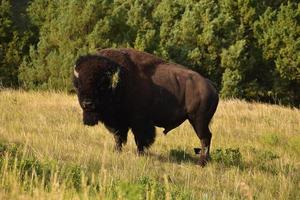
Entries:
<svg viewBox="0 0 300 200">
<path fill-rule="evenodd" d="M 0 85 L 19 85 L 19 66 L 28 54 L 29 43 L 36 43 L 33 26 L 28 23 L 28 1 L 2 0 L 0 5 Z"/>
</svg>

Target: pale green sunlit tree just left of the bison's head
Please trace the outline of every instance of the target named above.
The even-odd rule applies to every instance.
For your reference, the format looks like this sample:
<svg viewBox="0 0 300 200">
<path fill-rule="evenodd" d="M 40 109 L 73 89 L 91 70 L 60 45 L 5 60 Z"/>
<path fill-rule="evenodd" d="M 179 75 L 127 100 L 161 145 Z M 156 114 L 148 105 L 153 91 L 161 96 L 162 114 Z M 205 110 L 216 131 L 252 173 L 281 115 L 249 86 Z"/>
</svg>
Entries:
<svg viewBox="0 0 300 200">
<path fill-rule="evenodd" d="M 70 90 L 75 58 L 92 47 L 92 33 L 105 2 L 99 1 L 33 1 L 29 14 L 39 26 L 37 46 L 20 68 L 19 78 L 25 88 Z M 65 12 L 68 10 L 68 12 Z"/>
</svg>

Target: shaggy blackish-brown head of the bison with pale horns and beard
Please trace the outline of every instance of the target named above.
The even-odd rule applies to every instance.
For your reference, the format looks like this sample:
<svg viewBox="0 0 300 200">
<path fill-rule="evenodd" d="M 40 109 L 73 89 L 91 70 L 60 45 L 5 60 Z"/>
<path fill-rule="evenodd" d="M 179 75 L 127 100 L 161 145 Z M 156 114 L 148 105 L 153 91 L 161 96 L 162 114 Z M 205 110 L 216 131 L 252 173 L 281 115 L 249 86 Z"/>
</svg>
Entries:
<svg viewBox="0 0 300 200">
<path fill-rule="evenodd" d="M 80 57 L 74 67 L 73 84 L 83 109 L 83 123 L 96 125 L 112 112 L 114 91 L 120 81 L 120 66 L 98 55 Z"/>
</svg>

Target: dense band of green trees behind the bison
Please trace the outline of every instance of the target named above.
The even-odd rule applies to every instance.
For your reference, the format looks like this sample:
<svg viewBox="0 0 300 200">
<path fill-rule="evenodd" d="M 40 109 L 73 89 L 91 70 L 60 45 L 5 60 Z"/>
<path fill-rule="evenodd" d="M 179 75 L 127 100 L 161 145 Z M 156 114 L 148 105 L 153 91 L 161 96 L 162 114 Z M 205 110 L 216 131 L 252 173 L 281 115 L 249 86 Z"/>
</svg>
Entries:
<svg viewBox="0 0 300 200">
<path fill-rule="evenodd" d="M 1 0 L 0 86 L 71 92 L 79 55 L 132 47 L 223 98 L 300 105 L 297 0 Z"/>
</svg>

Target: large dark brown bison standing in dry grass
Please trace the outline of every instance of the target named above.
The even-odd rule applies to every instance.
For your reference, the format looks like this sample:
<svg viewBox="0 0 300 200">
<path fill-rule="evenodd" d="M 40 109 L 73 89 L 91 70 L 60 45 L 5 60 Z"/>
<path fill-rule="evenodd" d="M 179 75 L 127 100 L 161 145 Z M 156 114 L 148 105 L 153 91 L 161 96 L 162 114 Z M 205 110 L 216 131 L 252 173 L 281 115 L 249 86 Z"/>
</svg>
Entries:
<svg viewBox="0 0 300 200">
<path fill-rule="evenodd" d="M 103 49 L 77 59 L 73 84 L 83 123 L 102 122 L 114 134 L 117 151 L 129 128 L 143 154 L 155 140 L 155 126 L 167 134 L 188 119 L 201 141 L 199 164 L 207 163 L 209 122 L 219 97 L 197 72 L 134 49 Z"/>
</svg>

